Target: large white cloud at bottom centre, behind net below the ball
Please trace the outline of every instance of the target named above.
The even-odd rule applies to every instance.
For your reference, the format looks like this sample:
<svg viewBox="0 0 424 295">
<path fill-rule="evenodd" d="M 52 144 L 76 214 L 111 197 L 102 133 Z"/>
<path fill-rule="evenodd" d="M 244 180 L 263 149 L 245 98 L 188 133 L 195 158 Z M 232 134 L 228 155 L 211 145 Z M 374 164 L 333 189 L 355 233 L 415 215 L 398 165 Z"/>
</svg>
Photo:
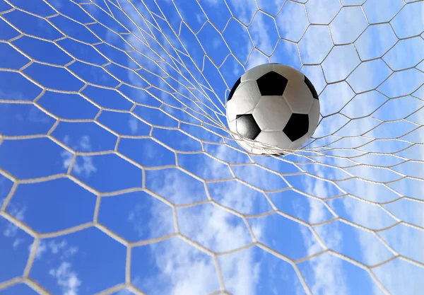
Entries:
<svg viewBox="0 0 424 295">
<path fill-rule="evenodd" d="M 218 151 L 219 153 L 220 151 Z M 228 153 L 228 149 L 226 149 Z M 235 157 L 239 154 L 234 152 Z M 199 164 L 200 165 L 200 164 Z M 213 173 L 218 173 L 211 167 Z M 251 175 L 252 178 L 260 175 Z M 196 195 L 195 190 L 186 190 L 184 183 L 180 183 L 172 178 L 172 172 L 165 176 L 166 185 L 162 187 L 161 195 L 172 199 L 172 202 L 187 202 L 187 197 Z M 168 179 L 169 178 L 169 179 Z M 232 182 L 229 182 L 232 183 Z M 249 202 L 248 197 L 242 197 L 242 189 L 237 185 L 228 185 L 228 192 L 240 197 L 240 209 L 249 211 L 254 206 Z M 223 187 L 225 190 L 225 187 Z M 243 200 L 245 199 L 245 200 Z M 191 208 L 178 209 L 178 222 L 180 229 L 184 228 L 184 233 L 188 238 L 192 238 L 207 248 L 220 251 L 229 248 L 238 248 L 242 245 L 252 243 L 252 239 L 247 233 L 245 225 L 234 224 L 234 216 L 223 209 L 212 204 L 197 207 L 199 210 L 194 213 Z M 148 224 L 152 231 L 169 233 L 175 231 L 173 219 L 170 216 L 158 216 L 163 214 L 155 206 L 151 207 L 151 215 L 154 216 Z M 134 216 L 132 219 L 135 221 Z M 136 224 L 135 224 L 136 225 Z M 257 236 L 261 236 L 262 224 L 257 223 L 253 229 Z M 144 229 L 141 229 L 144 230 Z M 148 277 L 143 281 L 144 286 L 152 287 L 154 284 L 157 294 L 201 294 L 202 291 L 216 291 L 217 279 L 216 268 L 213 260 L 204 260 L 193 250 L 192 246 L 182 243 L 178 238 L 167 241 L 167 247 L 152 244 L 152 257 L 155 265 L 159 269 L 159 274 Z M 252 251 L 247 251 L 244 255 L 232 256 L 229 260 L 220 263 L 220 269 L 225 274 L 225 284 L 228 287 L 240 290 L 240 294 L 255 294 L 256 285 L 259 282 L 260 262 L 255 261 Z M 150 282 L 150 283 L 148 283 Z M 160 282 L 160 287 L 157 286 Z M 133 282 L 134 283 L 134 282 Z M 153 293 L 155 294 L 155 293 Z"/>
</svg>

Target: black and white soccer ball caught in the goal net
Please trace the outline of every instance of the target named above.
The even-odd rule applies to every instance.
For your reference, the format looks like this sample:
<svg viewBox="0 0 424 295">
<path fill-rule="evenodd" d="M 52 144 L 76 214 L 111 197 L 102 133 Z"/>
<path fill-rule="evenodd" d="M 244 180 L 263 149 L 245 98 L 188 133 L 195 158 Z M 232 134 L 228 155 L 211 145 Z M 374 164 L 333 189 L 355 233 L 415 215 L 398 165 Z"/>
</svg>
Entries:
<svg viewBox="0 0 424 295">
<path fill-rule="evenodd" d="M 303 146 L 319 120 L 319 99 L 311 81 L 283 64 L 262 64 L 245 72 L 230 91 L 227 122 L 237 143 L 252 154 L 283 155 Z"/>
</svg>

